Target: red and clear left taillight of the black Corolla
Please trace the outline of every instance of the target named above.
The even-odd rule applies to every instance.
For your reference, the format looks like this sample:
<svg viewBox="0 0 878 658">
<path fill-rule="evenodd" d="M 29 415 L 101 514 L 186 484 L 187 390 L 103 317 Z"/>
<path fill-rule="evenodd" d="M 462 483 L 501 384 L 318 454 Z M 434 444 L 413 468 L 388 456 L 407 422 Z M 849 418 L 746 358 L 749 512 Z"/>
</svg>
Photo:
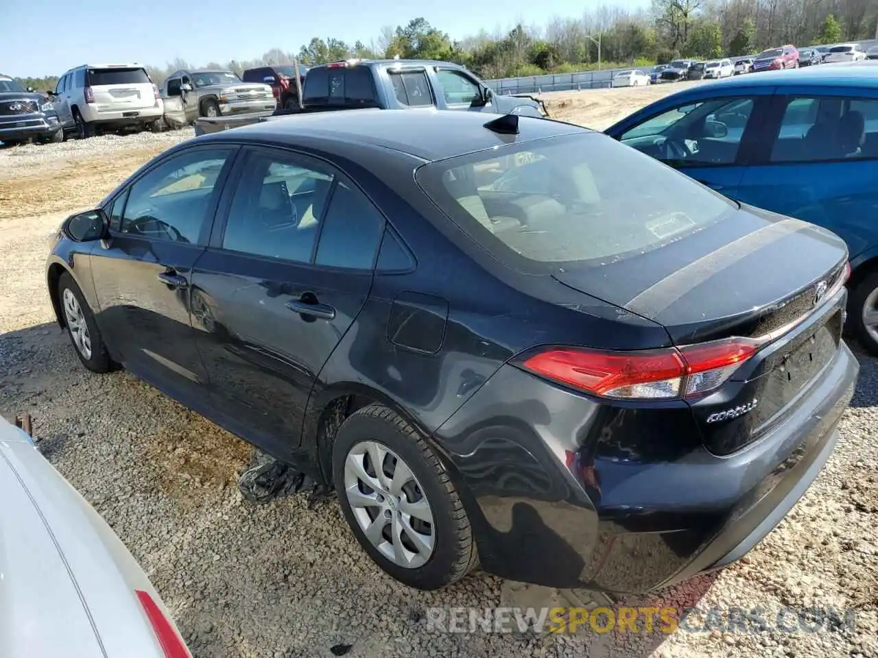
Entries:
<svg viewBox="0 0 878 658">
<path fill-rule="evenodd" d="M 759 347 L 759 341 L 745 338 L 635 352 L 546 347 L 528 356 L 521 366 L 600 397 L 673 399 L 716 390 Z"/>
</svg>

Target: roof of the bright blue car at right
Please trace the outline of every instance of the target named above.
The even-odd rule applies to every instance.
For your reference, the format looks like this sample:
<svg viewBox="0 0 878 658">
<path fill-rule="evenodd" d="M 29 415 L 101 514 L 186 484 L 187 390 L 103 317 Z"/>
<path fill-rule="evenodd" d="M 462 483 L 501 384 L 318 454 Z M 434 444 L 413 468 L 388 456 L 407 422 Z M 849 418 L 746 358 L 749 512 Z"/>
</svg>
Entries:
<svg viewBox="0 0 878 658">
<path fill-rule="evenodd" d="M 824 64 L 819 67 L 799 68 L 795 71 L 766 71 L 755 75 L 736 76 L 709 82 L 709 89 L 736 89 L 738 87 L 867 87 L 878 89 L 878 70 L 875 61 L 845 64 Z M 694 87 L 680 94 L 701 93 L 705 86 Z"/>
</svg>

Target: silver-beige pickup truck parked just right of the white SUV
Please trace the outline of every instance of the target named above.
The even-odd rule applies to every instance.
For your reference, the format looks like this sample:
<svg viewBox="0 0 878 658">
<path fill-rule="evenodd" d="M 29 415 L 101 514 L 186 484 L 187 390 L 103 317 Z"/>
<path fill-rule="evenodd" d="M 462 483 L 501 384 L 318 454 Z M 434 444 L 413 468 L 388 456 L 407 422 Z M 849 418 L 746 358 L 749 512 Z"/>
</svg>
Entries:
<svg viewBox="0 0 878 658">
<path fill-rule="evenodd" d="M 277 99 L 262 82 L 241 82 L 232 71 L 175 71 L 162 85 L 165 123 L 190 124 L 199 117 L 274 110 Z"/>
</svg>

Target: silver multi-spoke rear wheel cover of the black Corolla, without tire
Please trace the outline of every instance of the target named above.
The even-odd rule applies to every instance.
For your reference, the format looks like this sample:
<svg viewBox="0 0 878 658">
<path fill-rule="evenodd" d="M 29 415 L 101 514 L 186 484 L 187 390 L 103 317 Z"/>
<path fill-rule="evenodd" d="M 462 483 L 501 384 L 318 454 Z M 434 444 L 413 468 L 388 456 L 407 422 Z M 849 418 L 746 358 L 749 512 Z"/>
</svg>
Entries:
<svg viewBox="0 0 878 658">
<path fill-rule="evenodd" d="M 387 560 L 417 569 L 435 551 L 433 509 L 421 483 L 398 454 L 378 441 L 360 441 L 344 462 L 350 509 L 366 539 Z"/>
</svg>

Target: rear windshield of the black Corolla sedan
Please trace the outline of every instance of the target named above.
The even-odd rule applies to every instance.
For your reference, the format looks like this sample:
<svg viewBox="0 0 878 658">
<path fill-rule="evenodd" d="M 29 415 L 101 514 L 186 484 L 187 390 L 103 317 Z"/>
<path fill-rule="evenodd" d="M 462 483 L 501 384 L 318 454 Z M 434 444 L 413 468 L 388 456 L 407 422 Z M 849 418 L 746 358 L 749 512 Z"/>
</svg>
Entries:
<svg viewBox="0 0 878 658">
<path fill-rule="evenodd" d="M 737 208 L 650 156 L 580 133 L 431 162 L 417 181 L 500 261 L 601 265 L 662 247 Z"/>
</svg>

